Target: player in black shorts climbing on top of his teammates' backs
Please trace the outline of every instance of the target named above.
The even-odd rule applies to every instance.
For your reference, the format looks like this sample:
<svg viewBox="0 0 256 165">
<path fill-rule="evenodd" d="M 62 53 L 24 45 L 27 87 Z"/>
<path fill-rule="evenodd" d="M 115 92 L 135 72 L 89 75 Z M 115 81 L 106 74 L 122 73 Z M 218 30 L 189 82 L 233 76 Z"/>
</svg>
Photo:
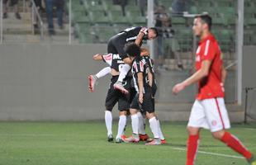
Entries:
<svg viewBox="0 0 256 165">
<path fill-rule="evenodd" d="M 126 88 L 122 86 L 122 81 L 126 78 L 126 74 L 130 70 L 131 61 L 127 57 L 126 52 L 124 50 L 125 45 L 128 42 L 135 42 L 137 45 L 142 45 L 142 40 L 154 40 L 158 36 L 158 31 L 154 27 L 150 27 L 149 29 L 141 26 L 130 27 L 120 33 L 111 37 L 111 39 L 107 43 L 107 53 L 108 54 L 119 54 L 121 59 L 125 62 L 125 64 L 120 65 L 120 75 L 116 84 L 114 84 L 115 89 L 121 90 L 121 92 L 128 92 Z M 103 75 L 107 75 L 109 73 L 109 68 L 102 69 L 98 75 L 90 75 L 89 78 L 89 86 L 90 91 L 94 91 L 95 82 L 98 78 L 102 78 Z M 99 76 L 99 77 L 97 77 Z"/>
</svg>

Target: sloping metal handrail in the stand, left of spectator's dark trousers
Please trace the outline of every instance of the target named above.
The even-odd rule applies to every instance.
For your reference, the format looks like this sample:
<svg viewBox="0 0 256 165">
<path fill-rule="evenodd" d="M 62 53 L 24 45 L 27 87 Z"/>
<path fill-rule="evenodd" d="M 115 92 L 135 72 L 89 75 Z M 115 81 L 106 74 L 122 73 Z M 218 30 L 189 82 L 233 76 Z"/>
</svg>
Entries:
<svg viewBox="0 0 256 165">
<path fill-rule="evenodd" d="M 35 25 L 40 28 L 40 40 L 44 38 L 44 22 L 41 19 L 41 16 L 37 10 L 36 3 L 34 0 L 31 0 L 31 26 L 32 34 L 35 34 Z"/>
</svg>

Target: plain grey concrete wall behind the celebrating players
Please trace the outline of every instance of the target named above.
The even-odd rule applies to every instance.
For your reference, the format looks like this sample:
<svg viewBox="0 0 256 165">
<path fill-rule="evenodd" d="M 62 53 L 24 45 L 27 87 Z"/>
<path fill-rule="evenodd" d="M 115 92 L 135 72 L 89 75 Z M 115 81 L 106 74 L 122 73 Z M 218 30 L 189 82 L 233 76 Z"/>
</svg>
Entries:
<svg viewBox="0 0 256 165">
<path fill-rule="evenodd" d="M 102 78 L 90 93 L 88 75 L 107 66 L 92 59 L 106 51 L 107 45 L 95 44 L 0 45 L 0 120 L 103 120 L 110 77 Z M 171 93 L 173 84 L 187 76 L 157 73 L 159 119 L 188 119 L 197 89 L 187 88 L 178 97 Z M 232 121 L 244 120 L 241 106 L 228 109 Z M 113 114 L 117 119 L 116 107 Z"/>
</svg>

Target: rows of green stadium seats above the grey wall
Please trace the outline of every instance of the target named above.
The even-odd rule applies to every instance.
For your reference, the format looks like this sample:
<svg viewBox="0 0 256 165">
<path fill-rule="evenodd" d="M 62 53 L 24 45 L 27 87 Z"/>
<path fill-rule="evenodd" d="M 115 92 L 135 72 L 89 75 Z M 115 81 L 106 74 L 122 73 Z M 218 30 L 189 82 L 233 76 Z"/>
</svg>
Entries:
<svg viewBox="0 0 256 165">
<path fill-rule="evenodd" d="M 170 48 L 181 54 L 184 52 L 191 54 L 192 19 L 173 14 L 173 0 L 155 0 L 155 3 L 166 8 L 175 31 L 175 39 L 164 39 L 164 50 L 168 50 L 167 45 L 170 44 L 172 45 L 169 46 Z M 213 19 L 212 32 L 216 35 L 221 50 L 229 60 L 235 59 L 236 7 L 237 2 L 233 0 L 194 0 L 190 1 L 187 11 L 192 14 L 208 12 L 211 15 Z M 246 7 L 244 10 L 244 45 L 255 45 L 256 37 L 253 34 L 256 34 L 256 12 L 254 10 L 256 2 L 245 0 L 244 7 Z M 83 0 L 83 6 L 78 1 L 73 1 L 74 33 L 80 43 L 107 43 L 111 35 L 129 26 L 146 26 L 146 21 L 146 16 L 141 16 L 140 9 L 133 0 L 128 1 L 126 5 L 126 16 L 122 15 L 121 6 L 113 5 L 111 0 Z M 165 56 L 170 57 L 168 52 L 166 53 Z M 182 59 L 192 60 L 187 55 L 183 55 Z M 169 61 L 166 59 L 165 64 L 173 64 Z M 184 68 L 189 68 L 186 64 L 190 65 L 191 62 L 185 63 Z M 168 66 L 167 68 L 175 67 Z"/>
</svg>

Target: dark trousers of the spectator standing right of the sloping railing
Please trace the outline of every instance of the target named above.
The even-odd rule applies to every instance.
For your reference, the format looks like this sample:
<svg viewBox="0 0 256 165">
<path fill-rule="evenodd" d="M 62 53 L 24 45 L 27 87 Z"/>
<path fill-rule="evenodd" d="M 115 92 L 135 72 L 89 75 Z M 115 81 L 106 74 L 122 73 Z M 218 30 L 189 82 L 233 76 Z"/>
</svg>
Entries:
<svg viewBox="0 0 256 165">
<path fill-rule="evenodd" d="M 57 17 L 59 29 L 63 29 L 63 12 L 64 12 L 64 0 L 45 0 L 48 32 L 49 35 L 55 35 L 55 28 L 53 22 L 53 7 L 57 8 Z"/>
</svg>

